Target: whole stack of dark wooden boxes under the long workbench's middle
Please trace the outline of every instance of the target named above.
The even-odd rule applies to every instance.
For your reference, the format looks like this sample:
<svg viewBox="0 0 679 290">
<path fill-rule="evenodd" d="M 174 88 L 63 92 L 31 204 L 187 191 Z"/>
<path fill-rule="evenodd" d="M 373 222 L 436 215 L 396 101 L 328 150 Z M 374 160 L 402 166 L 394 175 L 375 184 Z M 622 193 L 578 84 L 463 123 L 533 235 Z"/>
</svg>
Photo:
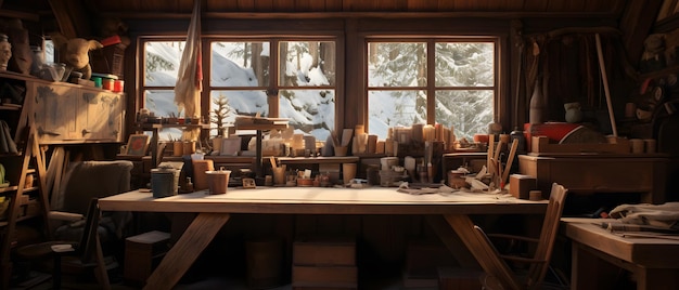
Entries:
<svg viewBox="0 0 679 290">
<path fill-rule="evenodd" d="M 305 238 L 293 245 L 293 289 L 358 289 L 356 241 Z"/>
</svg>

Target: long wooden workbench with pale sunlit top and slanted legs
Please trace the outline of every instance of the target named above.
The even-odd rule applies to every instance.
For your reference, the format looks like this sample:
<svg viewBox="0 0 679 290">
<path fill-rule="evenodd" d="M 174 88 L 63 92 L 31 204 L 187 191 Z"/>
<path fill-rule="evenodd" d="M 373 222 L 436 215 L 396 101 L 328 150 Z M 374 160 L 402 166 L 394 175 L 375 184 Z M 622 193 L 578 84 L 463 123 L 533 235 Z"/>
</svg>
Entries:
<svg viewBox="0 0 679 290">
<path fill-rule="evenodd" d="M 547 201 L 528 201 L 509 195 L 409 195 L 396 188 L 370 187 L 257 187 L 229 188 L 225 195 L 196 192 L 154 198 L 134 190 L 99 200 L 104 211 L 196 213 L 146 281 L 145 289 L 171 289 L 209 245 L 232 213 L 258 214 L 440 214 L 470 249 L 482 267 L 500 263 L 492 249 L 476 240 L 470 214 L 543 214 Z M 441 237 L 444 243 L 451 237 Z M 450 248 L 450 247 L 449 247 Z M 492 273 L 489 267 L 489 273 Z M 501 274 L 497 274 L 501 275 Z"/>
</svg>

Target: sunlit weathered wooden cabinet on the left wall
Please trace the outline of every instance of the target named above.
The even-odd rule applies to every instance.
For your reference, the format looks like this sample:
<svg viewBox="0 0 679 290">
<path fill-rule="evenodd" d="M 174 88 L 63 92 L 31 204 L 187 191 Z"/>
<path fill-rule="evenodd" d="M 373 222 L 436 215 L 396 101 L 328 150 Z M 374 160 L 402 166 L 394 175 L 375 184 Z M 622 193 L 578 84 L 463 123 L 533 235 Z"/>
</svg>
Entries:
<svg viewBox="0 0 679 290">
<path fill-rule="evenodd" d="M 28 87 L 40 144 L 124 142 L 123 93 L 39 80 Z"/>
</svg>

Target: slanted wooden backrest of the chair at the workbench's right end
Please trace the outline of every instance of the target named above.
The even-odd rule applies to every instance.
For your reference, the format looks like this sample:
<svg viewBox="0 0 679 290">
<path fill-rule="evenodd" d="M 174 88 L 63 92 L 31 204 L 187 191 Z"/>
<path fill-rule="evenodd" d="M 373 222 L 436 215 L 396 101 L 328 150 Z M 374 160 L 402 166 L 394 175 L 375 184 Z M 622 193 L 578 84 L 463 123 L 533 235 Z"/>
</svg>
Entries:
<svg viewBox="0 0 679 290">
<path fill-rule="evenodd" d="M 554 239 L 559 232 L 559 223 L 561 221 L 561 214 L 563 212 L 564 203 L 566 201 L 566 189 L 563 185 L 553 183 L 552 190 L 549 196 L 549 205 L 547 206 L 547 212 L 545 213 L 545 220 L 542 221 L 542 229 L 540 230 L 540 238 L 535 251 L 534 259 L 542 260 L 545 263 L 533 264 L 528 271 L 527 284 L 529 287 L 539 284 L 545 279 L 547 269 L 549 268 L 549 262 L 552 256 L 552 250 L 554 248 Z"/>
</svg>

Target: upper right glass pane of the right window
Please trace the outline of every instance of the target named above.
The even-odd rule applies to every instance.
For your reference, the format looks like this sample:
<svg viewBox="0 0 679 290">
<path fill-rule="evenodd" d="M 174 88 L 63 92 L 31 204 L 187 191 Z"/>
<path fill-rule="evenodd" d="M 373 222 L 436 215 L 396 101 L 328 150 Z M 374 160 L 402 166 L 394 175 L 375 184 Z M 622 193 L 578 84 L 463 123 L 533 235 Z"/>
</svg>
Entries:
<svg viewBox="0 0 679 290">
<path fill-rule="evenodd" d="M 495 44 L 437 42 L 437 87 L 494 87 Z"/>
</svg>

